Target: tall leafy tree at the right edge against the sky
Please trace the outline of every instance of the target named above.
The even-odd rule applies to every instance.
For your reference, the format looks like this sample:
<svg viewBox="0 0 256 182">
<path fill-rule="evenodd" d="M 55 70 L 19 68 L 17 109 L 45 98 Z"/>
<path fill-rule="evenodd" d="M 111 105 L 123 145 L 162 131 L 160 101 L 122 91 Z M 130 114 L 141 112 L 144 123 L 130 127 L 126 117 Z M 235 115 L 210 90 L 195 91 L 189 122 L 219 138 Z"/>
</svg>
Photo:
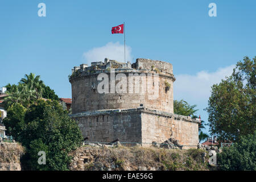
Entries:
<svg viewBox="0 0 256 182">
<path fill-rule="evenodd" d="M 239 140 L 256 130 L 255 61 L 244 57 L 232 76 L 212 86 L 208 101 L 210 133 L 222 140 Z"/>
</svg>

